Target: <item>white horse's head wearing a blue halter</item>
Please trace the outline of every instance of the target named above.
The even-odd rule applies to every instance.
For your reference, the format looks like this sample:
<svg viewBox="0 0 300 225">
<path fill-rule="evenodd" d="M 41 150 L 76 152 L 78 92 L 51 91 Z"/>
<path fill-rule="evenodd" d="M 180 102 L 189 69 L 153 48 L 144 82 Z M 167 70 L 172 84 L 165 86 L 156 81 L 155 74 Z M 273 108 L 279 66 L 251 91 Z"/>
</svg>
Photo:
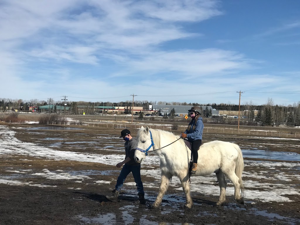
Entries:
<svg viewBox="0 0 300 225">
<path fill-rule="evenodd" d="M 141 163 L 148 155 L 149 149 L 154 149 L 154 143 L 152 139 L 151 131 L 149 127 L 144 128 L 143 126 L 137 132 L 137 148 L 134 153 L 134 160 L 137 163 Z"/>
</svg>

